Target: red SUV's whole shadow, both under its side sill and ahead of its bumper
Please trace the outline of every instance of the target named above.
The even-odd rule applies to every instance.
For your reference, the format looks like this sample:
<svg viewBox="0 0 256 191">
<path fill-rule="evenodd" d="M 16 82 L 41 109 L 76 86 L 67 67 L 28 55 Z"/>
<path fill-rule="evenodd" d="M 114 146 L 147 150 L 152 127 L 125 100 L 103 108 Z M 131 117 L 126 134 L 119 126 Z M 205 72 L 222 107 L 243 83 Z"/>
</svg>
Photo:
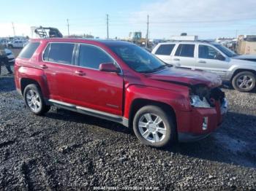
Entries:
<svg viewBox="0 0 256 191">
<path fill-rule="evenodd" d="M 132 130 L 116 122 L 64 109 L 57 109 L 57 112 L 49 112 L 45 116 L 55 120 L 97 125 L 120 133 L 133 134 Z M 188 143 L 176 143 L 171 147 L 160 150 L 203 160 L 256 168 L 255 123 L 256 116 L 228 112 L 219 129 L 206 139 Z"/>
</svg>

